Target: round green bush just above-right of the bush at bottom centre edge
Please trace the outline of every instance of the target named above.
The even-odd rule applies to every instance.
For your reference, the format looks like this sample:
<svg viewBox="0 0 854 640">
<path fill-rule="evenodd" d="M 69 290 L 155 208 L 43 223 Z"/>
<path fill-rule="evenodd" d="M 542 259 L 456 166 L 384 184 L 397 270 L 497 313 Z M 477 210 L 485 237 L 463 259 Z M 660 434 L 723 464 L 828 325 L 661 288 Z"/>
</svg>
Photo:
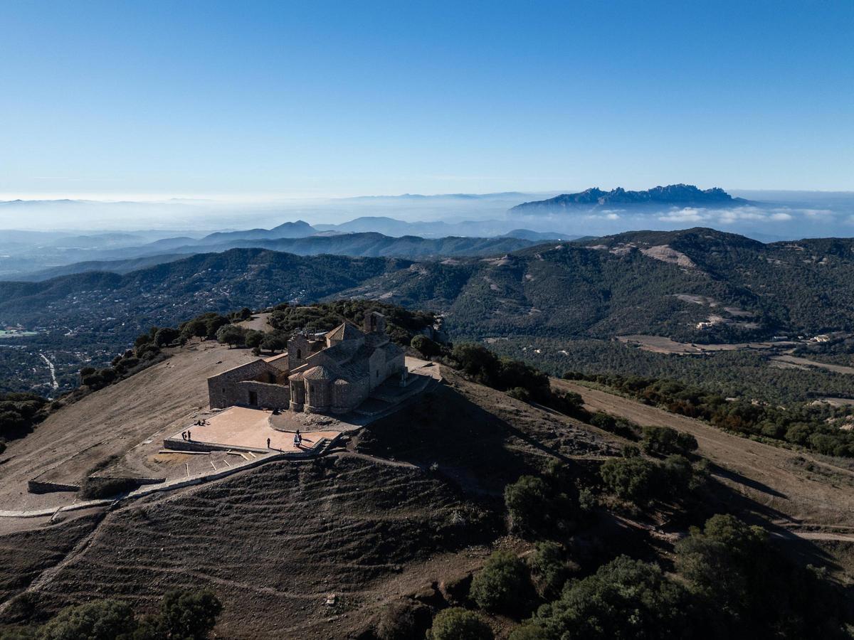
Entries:
<svg viewBox="0 0 854 640">
<path fill-rule="evenodd" d="M 528 567 L 510 551 L 494 551 L 471 580 L 469 596 L 487 611 L 518 611 L 529 598 Z"/>
</svg>

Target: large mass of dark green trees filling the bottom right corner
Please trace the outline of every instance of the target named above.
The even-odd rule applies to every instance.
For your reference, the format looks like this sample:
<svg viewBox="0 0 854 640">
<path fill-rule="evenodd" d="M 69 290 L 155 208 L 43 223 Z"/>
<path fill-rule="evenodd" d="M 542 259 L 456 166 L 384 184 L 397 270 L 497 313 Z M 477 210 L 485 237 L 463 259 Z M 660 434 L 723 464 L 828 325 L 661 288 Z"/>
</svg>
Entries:
<svg viewBox="0 0 854 640">
<path fill-rule="evenodd" d="M 843 638 L 850 622 L 820 572 L 781 556 L 763 529 L 715 515 L 676 544 L 672 577 L 619 556 L 566 583 L 511 638 Z"/>
</svg>

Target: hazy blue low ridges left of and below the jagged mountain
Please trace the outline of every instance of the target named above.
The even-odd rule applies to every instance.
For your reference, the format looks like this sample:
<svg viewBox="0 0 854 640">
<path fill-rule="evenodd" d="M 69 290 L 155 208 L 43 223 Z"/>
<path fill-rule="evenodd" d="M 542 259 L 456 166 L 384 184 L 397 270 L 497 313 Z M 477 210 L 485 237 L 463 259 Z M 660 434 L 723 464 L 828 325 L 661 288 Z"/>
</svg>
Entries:
<svg viewBox="0 0 854 640">
<path fill-rule="evenodd" d="M 0 279 L 39 281 L 85 271 L 127 273 L 194 253 L 232 248 L 258 247 L 297 255 L 436 259 L 502 253 L 544 239 L 577 237 L 526 229 L 508 232 L 511 227 L 509 221 L 407 223 L 363 217 L 316 227 L 297 220 L 272 229 L 217 231 L 201 238 L 161 237 L 146 231 L 85 236 L 15 233 L 7 241 L 0 239 Z M 489 237 L 478 236 L 478 231 Z"/>
</svg>

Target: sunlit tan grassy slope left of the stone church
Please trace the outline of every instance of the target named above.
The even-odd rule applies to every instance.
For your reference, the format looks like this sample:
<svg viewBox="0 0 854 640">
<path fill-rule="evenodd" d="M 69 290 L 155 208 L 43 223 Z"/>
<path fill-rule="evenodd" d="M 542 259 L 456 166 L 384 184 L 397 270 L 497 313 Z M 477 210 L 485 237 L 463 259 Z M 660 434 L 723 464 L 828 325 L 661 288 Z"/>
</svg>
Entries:
<svg viewBox="0 0 854 640">
<path fill-rule="evenodd" d="M 0 509 L 70 502 L 73 494 L 29 494 L 26 482 L 40 474 L 77 482 L 103 459 L 154 433 L 174 430 L 173 423 L 208 405 L 209 375 L 250 358 L 249 350 L 230 350 L 213 341 L 184 346 L 172 358 L 56 411 L 26 438 L 9 443 L 6 462 L 0 464 Z"/>
</svg>

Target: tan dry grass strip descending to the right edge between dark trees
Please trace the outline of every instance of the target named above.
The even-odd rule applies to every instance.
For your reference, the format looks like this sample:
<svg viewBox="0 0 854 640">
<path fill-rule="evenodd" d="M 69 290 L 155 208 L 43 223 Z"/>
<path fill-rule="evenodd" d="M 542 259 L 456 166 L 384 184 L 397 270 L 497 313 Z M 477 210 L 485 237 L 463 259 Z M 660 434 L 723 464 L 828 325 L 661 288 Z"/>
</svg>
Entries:
<svg viewBox="0 0 854 640">
<path fill-rule="evenodd" d="M 721 468 L 719 480 L 788 519 L 816 527 L 854 527 L 854 473 L 846 468 L 570 381 L 553 380 L 553 385 L 580 393 L 590 410 L 691 433 L 699 454 Z M 798 459 L 811 463 L 812 470 Z"/>
</svg>

